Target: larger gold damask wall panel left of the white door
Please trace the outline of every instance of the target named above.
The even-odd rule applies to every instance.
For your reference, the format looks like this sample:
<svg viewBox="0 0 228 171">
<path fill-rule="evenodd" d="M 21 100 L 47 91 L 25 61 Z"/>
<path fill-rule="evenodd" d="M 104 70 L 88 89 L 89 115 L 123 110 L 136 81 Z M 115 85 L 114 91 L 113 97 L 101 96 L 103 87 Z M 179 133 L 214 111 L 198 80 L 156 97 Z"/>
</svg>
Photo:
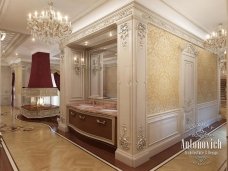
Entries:
<svg viewBox="0 0 228 171">
<path fill-rule="evenodd" d="M 179 47 L 185 41 L 153 25 L 147 36 L 147 114 L 179 108 Z"/>
</svg>

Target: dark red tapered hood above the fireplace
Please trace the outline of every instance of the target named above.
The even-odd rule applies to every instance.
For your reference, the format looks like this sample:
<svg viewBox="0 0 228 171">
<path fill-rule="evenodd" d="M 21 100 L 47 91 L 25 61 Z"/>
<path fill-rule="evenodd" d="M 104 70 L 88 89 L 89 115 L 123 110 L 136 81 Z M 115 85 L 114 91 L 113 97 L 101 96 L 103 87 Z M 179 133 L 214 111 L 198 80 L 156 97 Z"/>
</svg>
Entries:
<svg viewBox="0 0 228 171">
<path fill-rule="evenodd" d="M 49 53 L 32 55 L 32 68 L 28 88 L 52 88 Z"/>
</svg>

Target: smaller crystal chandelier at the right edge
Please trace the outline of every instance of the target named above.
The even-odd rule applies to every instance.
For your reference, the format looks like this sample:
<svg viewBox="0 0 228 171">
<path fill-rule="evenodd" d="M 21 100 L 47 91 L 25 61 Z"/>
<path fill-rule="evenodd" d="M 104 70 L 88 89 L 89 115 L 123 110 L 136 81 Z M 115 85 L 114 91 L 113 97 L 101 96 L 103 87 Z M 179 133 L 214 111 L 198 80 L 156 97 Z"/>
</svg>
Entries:
<svg viewBox="0 0 228 171">
<path fill-rule="evenodd" d="M 219 24 L 217 31 L 213 31 L 207 35 L 204 41 L 204 47 L 216 54 L 224 53 L 226 48 L 226 35 L 227 31 L 223 28 L 222 24 Z"/>
</svg>

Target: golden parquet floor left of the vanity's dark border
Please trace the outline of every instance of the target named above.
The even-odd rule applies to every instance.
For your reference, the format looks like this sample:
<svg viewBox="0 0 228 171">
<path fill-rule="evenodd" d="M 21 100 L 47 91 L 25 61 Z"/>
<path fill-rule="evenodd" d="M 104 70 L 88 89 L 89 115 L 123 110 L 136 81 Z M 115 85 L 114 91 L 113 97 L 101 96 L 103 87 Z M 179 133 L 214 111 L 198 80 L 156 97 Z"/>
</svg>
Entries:
<svg viewBox="0 0 228 171">
<path fill-rule="evenodd" d="M 19 110 L 14 112 L 18 114 Z M 14 120 L 9 107 L 2 107 L 1 113 L 0 131 L 21 171 L 116 170 L 51 131 L 47 125 Z"/>
</svg>

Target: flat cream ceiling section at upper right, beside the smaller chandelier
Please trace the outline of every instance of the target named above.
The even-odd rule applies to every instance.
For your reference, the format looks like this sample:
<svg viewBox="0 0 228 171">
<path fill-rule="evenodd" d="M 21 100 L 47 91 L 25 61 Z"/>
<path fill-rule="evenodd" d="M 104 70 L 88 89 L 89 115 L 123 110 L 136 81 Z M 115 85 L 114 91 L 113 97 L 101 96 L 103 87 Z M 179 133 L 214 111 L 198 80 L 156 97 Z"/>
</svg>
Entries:
<svg viewBox="0 0 228 171">
<path fill-rule="evenodd" d="M 206 32 L 227 23 L 226 0 L 161 0 L 165 5 Z"/>
</svg>

